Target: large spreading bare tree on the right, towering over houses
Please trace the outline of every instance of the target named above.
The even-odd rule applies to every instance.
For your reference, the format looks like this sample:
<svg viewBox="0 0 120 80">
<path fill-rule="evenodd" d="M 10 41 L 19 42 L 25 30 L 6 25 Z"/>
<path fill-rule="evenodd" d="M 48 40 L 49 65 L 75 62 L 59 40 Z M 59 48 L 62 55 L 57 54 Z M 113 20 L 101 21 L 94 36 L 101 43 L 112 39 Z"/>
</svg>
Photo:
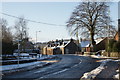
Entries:
<svg viewBox="0 0 120 80">
<path fill-rule="evenodd" d="M 82 2 L 73 11 L 67 28 L 76 33 L 79 29 L 82 35 L 90 36 L 92 45 L 96 44 L 95 35 L 105 35 L 108 27 L 113 31 L 110 25 L 109 6 L 105 2 Z"/>
</svg>

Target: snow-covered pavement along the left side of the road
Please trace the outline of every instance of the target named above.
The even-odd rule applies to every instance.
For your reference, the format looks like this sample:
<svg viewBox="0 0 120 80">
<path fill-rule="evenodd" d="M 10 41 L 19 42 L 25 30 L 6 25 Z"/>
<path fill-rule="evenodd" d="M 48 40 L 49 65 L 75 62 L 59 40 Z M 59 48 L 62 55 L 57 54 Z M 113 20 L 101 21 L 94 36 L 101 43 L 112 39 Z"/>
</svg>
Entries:
<svg viewBox="0 0 120 80">
<path fill-rule="evenodd" d="M 54 63 L 54 62 L 42 62 L 43 60 L 53 60 L 53 59 L 60 60 L 60 58 L 58 58 L 57 56 L 48 56 L 48 57 L 37 58 L 37 59 L 23 59 L 20 61 L 27 60 L 27 62 L 21 63 L 21 64 L 11 64 L 11 65 L 0 66 L 0 72 L 2 72 L 2 75 L 6 75 L 6 74 L 21 72 L 21 71 L 27 71 L 35 68 L 40 68 L 40 67 L 48 66 Z M 35 60 L 35 61 L 31 62 L 31 60 Z M 10 61 L 8 60 L 8 62 Z M 12 60 L 12 61 L 17 61 L 17 60 Z"/>
</svg>

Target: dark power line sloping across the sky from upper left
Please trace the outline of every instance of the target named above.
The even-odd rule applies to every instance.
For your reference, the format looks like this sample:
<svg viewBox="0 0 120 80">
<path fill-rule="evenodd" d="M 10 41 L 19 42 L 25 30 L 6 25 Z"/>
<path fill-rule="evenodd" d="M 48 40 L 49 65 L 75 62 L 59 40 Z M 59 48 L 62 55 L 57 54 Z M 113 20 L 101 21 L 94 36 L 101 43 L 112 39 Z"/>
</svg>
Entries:
<svg viewBox="0 0 120 80">
<path fill-rule="evenodd" d="M 1 13 L 1 14 L 9 16 L 9 17 L 13 17 L 13 18 L 21 19 L 20 17 L 13 16 L 13 15 L 6 14 L 6 13 Z M 57 24 L 51 24 L 51 23 L 45 23 L 45 22 L 38 22 L 38 21 L 30 20 L 30 19 L 25 19 L 25 20 L 29 22 L 33 22 L 33 23 L 40 23 L 40 24 L 51 25 L 51 26 L 65 26 L 65 25 L 57 25 Z"/>
</svg>

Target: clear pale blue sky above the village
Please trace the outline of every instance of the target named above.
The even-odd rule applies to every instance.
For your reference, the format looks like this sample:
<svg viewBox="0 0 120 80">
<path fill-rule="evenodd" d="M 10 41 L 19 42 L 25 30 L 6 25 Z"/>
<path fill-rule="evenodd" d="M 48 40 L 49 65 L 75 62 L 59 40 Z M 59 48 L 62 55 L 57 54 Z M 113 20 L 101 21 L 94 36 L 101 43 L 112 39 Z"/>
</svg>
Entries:
<svg viewBox="0 0 120 80">
<path fill-rule="evenodd" d="M 24 16 L 26 19 L 57 24 L 66 25 L 71 13 L 79 2 L 3 2 L 2 12 L 14 16 Z M 110 15 L 113 24 L 117 25 L 118 19 L 118 3 L 112 2 L 110 4 Z M 4 19 L 8 21 L 8 27 L 11 27 L 11 31 L 14 32 L 12 27 L 15 25 L 16 18 L 2 15 Z M 70 39 L 75 38 L 69 35 L 66 26 L 45 25 L 40 23 L 27 22 L 29 31 L 29 37 L 33 42 L 37 41 L 46 42 L 56 39 Z M 80 36 L 79 36 L 80 37 Z"/>
</svg>

